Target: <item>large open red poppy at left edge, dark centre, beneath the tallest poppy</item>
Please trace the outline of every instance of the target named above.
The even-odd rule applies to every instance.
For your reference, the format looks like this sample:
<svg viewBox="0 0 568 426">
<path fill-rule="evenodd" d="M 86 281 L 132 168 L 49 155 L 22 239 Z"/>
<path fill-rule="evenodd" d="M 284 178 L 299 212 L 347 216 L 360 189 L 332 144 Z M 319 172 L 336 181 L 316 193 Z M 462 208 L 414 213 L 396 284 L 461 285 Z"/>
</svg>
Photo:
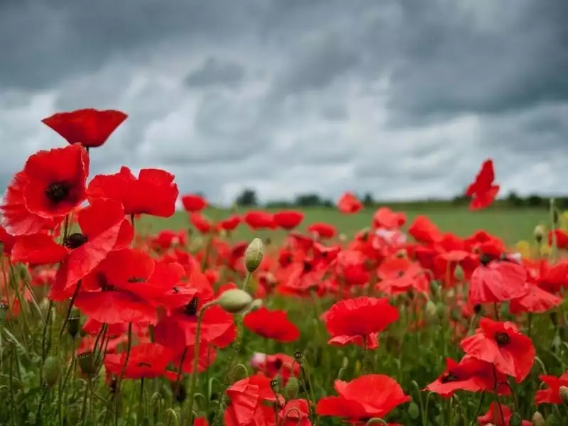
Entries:
<svg viewBox="0 0 568 426">
<path fill-rule="evenodd" d="M 87 175 L 89 156 L 80 145 L 31 155 L 4 195 L 4 228 L 16 236 L 53 229 L 84 201 Z"/>
</svg>

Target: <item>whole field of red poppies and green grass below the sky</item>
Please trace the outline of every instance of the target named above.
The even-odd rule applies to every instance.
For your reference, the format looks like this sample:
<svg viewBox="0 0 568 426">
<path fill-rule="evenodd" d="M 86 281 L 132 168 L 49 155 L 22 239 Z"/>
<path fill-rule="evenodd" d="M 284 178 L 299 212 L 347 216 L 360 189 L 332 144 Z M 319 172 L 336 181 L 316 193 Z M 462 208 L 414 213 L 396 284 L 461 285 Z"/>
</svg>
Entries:
<svg viewBox="0 0 568 426">
<path fill-rule="evenodd" d="M 165 170 L 89 174 L 126 118 L 44 119 L 62 146 L 6 190 L 1 425 L 568 424 L 553 201 L 491 211 L 486 160 L 468 211 L 349 192 L 334 212 L 212 211 Z"/>
</svg>

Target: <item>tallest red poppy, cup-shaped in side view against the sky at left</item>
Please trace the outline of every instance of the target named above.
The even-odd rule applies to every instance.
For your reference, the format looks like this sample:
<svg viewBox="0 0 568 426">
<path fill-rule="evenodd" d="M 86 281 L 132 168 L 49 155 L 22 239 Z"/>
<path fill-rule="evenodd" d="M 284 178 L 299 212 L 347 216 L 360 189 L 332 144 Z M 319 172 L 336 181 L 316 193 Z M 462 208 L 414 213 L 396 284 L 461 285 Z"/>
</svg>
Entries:
<svg viewBox="0 0 568 426">
<path fill-rule="evenodd" d="M 97 111 L 88 108 L 60 112 L 41 122 L 58 132 L 71 145 L 80 143 L 87 148 L 94 148 L 105 143 L 127 118 L 124 112 L 114 109 Z"/>
</svg>

